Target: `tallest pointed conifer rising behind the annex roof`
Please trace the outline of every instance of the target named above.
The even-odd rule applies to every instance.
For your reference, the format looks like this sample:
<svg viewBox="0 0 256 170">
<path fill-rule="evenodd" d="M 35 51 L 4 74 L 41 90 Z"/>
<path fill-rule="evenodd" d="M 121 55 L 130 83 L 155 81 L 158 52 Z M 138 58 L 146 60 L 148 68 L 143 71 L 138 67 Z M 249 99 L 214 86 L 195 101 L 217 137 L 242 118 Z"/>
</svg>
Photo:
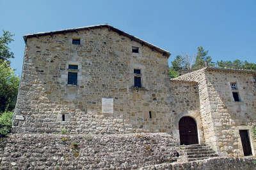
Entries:
<svg viewBox="0 0 256 170">
<path fill-rule="evenodd" d="M 212 63 L 212 57 L 208 55 L 208 50 L 204 50 L 202 46 L 198 46 L 193 69 L 201 69 L 202 67 L 205 67 L 205 62 L 207 62 L 208 66 L 214 66 L 214 63 Z"/>
</svg>

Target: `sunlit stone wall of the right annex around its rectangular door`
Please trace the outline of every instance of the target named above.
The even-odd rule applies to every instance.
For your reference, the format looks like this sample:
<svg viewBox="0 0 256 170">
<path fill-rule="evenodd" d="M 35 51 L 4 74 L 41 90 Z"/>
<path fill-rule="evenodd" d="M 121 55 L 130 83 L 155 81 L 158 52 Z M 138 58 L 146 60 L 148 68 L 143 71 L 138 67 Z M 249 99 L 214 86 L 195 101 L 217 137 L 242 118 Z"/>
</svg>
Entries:
<svg viewBox="0 0 256 170">
<path fill-rule="evenodd" d="M 255 153 L 256 87 L 253 74 L 228 71 L 206 71 L 214 131 L 218 138 L 218 150 L 225 155 L 243 156 L 239 129 L 249 131 L 252 150 Z M 254 75 L 255 76 L 255 75 Z M 234 101 L 230 83 L 237 84 L 241 102 Z"/>
</svg>

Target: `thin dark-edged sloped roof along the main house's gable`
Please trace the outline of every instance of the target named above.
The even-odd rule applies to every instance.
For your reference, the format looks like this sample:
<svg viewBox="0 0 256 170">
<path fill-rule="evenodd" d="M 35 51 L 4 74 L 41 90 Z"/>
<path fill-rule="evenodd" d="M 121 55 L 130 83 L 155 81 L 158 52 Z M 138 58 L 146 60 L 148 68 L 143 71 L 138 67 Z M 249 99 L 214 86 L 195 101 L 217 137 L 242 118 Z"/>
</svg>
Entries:
<svg viewBox="0 0 256 170">
<path fill-rule="evenodd" d="M 27 35 L 23 36 L 23 38 L 24 38 L 24 41 L 26 42 L 28 38 L 33 38 L 33 37 L 49 36 L 49 35 L 51 36 L 53 34 L 63 34 L 63 33 L 68 33 L 68 32 L 77 32 L 77 31 L 81 31 L 81 30 L 97 29 L 97 28 L 102 28 L 102 27 L 106 27 L 109 29 L 109 31 L 110 30 L 115 31 L 122 36 L 126 36 L 133 41 L 141 43 L 141 45 L 148 46 L 149 48 L 152 48 L 152 50 L 156 50 L 157 52 L 163 53 L 163 55 L 166 57 L 169 57 L 171 54 L 170 52 L 163 50 L 162 48 L 160 48 L 158 46 L 152 45 L 151 43 L 148 43 L 147 41 L 144 41 L 143 39 L 132 36 L 131 34 L 121 31 L 120 29 L 116 29 L 115 27 L 108 25 L 108 24 L 92 25 L 92 26 L 88 26 L 88 27 L 78 27 L 78 28 L 74 28 L 74 29 L 63 29 L 63 30 L 51 31 L 51 32 L 38 32 L 35 34 L 27 34 Z"/>
</svg>

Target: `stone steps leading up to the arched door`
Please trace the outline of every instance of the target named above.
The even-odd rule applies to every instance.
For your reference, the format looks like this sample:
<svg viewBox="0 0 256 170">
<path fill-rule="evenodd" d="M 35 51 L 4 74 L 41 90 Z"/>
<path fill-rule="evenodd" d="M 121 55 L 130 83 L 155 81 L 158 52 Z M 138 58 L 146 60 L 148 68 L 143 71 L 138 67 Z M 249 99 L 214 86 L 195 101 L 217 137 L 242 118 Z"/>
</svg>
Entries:
<svg viewBox="0 0 256 170">
<path fill-rule="evenodd" d="M 180 145 L 179 162 L 190 162 L 194 160 L 208 159 L 210 157 L 218 157 L 209 146 L 205 145 Z"/>
</svg>

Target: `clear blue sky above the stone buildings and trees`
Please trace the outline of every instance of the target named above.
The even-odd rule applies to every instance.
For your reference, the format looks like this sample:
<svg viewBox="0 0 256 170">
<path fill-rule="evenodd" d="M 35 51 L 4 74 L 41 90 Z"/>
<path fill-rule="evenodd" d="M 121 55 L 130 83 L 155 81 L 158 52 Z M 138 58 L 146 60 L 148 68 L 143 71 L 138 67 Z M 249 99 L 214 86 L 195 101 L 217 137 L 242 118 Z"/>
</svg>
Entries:
<svg viewBox="0 0 256 170">
<path fill-rule="evenodd" d="M 256 62 L 256 1 L 0 0 L 0 30 L 15 34 L 12 67 L 20 75 L 24 34 L 110 24 L 172 53 L 197 46 L 213 60 Z"/>
</svg>

